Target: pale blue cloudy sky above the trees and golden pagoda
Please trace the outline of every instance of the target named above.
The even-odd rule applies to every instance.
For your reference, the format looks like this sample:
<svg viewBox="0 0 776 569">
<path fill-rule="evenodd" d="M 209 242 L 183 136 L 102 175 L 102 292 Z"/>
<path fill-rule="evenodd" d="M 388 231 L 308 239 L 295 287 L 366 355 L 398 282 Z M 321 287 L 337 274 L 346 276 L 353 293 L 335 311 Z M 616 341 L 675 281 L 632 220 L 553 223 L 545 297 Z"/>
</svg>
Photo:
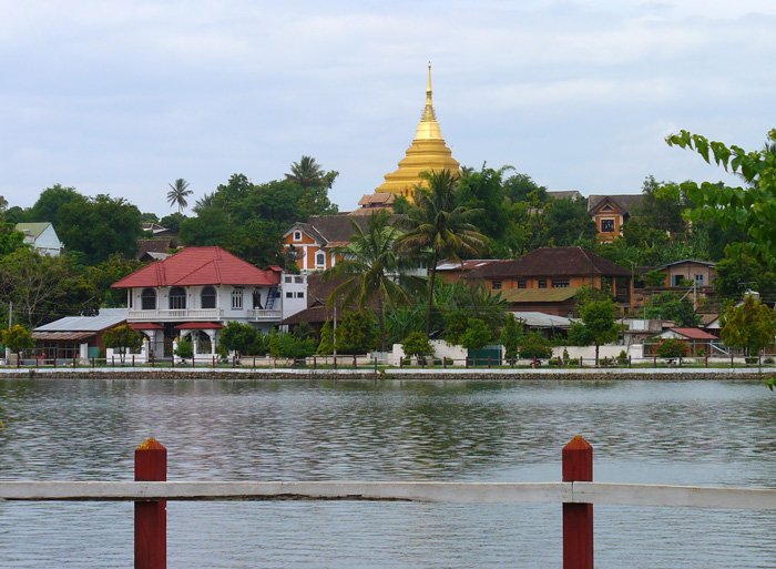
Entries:
<svg viewBox="0 0 776 569">
<path fill-rule="evenodd" d="M 357 206 L 405 156 L 426 98 L 461 164 L 549 190 L 725 181 L 670 148 L 746 150 L 776 128 L 773 0 L 0 0 L 0 194 L 61 183 L 173 212 L 234 173 L 312 155 Z M 43 221 L 43 220 L 41 220 Z"/>
</svg>

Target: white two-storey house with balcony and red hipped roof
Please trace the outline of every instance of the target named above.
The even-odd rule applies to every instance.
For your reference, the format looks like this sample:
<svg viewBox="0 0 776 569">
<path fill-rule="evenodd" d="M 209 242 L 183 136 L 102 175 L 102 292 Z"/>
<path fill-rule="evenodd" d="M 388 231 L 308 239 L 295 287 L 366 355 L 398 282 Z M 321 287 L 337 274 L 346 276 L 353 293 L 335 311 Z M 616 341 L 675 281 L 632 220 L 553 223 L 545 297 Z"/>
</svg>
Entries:
<svg viewBox="0 0 776 569">
<path fill-rule="evenodd" d="M 226 322 L 272 329 L 284 317 L 282 282 L 278 266 L 262 270 L 221 247 L 186 247 L 112 287 L 126 289 L 127 323 L 149 337 L 151 353 L 161 357 L 170 356 L 173 338 L 185 336 L 195 341 L 198 353 L 215 353 Z"/>
</svg>

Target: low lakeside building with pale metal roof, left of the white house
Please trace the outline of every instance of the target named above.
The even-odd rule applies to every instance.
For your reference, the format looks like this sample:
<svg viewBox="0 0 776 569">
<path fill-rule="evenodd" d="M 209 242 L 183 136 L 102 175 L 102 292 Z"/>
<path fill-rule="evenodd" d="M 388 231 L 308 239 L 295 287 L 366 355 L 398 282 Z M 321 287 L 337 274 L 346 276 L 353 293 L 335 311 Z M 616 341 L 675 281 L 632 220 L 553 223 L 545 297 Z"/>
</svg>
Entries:
<svg viewBox="0 0 776 569">
<path fill-rule="evenodd" d="M 37 354 L 47 360 L 96 357 L 103 334 L 126 324 L 126 308 L 100 308 L 96 316 L 67 316 L 32 331 Z"/>
</svg>

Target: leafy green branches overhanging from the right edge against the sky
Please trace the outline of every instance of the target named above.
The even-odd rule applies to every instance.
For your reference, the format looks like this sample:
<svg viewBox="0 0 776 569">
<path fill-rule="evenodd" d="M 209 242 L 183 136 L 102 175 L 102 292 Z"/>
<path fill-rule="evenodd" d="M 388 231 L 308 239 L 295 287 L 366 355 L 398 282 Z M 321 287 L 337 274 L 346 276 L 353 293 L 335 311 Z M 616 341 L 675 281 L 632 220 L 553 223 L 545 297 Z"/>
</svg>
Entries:
<svg viewBox="0 0 776 569">
<path fill-rule="evenodd" d="M 768 141 L 776 141 L 776 129 L 768 132 Z M 713 220 L 723 228 L 736 225 L 744 230 L 744 244 L 755 257 L 776 267 L 776 154 L 770 146 L 746 152 L 741 146 L 709 142 L 705 136 L 681 131 L 666 139 L 668 145 L 697 152 L 706 162 L 713 159 L 725 171 L 739 174 L 747 187 L 719 187 L 717 184 L 684 182 L 666 185 L 661 192 L 672 199 L 684 194 L 694 205 L 687 219 L 692 223 Z"/>
</svg>

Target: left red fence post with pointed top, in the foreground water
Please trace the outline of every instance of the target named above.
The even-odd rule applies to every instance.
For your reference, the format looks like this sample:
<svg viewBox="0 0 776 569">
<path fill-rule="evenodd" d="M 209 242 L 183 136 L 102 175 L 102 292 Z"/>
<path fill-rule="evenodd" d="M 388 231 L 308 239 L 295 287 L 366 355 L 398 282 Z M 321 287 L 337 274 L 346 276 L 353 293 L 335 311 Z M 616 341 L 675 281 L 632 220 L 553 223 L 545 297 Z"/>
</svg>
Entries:
<svg viewBox="0 0 776 569">
<path fill-rule="evenodd" d="M 150 438 L 135 449 L 135 481 L 166 481 L 167 449 Z M 167 567 L 167 502 L 135 502 L 135 569 Z"/>
</svg>

